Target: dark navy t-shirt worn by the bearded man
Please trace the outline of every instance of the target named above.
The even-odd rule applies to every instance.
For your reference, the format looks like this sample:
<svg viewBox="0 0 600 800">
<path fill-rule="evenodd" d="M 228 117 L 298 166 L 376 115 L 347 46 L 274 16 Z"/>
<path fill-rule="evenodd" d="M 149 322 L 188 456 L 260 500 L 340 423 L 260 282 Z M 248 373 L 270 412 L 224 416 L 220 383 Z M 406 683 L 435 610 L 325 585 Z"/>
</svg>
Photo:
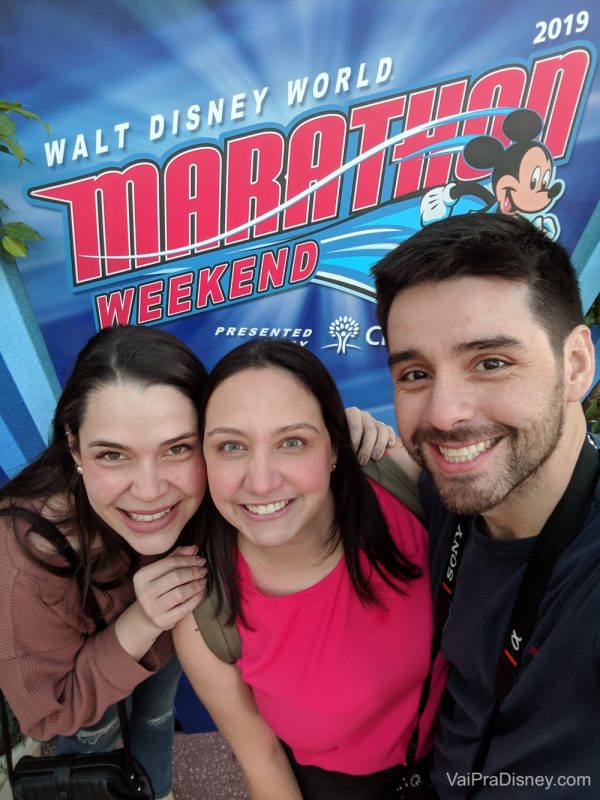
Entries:
<svg viewBox="0 0 600 800">
<path fill-rule="evenodd" d="M 434 596 L 456 516 L 421 479 Z M 584 527 L 555 565 L 517 683 L 504 700 L 485 765 L 471 774 L 493 708 L 496 667 L 535 537 L 477 530 L 465 546 L 442 652 L 452 669 L 439 714 L 433 781 L 442 800 L 600 797 L 600 488 Z M 550 787 L 550 788 L 549 788 Z"/>
</svg>

